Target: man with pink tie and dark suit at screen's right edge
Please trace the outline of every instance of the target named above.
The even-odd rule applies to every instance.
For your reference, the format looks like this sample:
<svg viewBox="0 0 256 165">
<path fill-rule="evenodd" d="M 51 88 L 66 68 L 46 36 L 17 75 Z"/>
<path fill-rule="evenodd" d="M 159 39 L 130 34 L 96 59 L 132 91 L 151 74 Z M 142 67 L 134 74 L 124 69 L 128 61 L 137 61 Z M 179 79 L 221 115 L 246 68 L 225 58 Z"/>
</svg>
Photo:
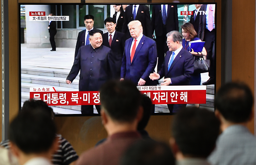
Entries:
<svg viewBox="0 0 256 165">
<path fill-rule="evenodd" d="M 206 12 L 206 15 L 203 14 Z M 210 60 L 209 80 L 203 85 L 215 83 L 215 4 L 203 4 L 199 16 L 198 38 L 205 41 L 204 47 L 207 51 L 206 59 Z"/>
</svg>

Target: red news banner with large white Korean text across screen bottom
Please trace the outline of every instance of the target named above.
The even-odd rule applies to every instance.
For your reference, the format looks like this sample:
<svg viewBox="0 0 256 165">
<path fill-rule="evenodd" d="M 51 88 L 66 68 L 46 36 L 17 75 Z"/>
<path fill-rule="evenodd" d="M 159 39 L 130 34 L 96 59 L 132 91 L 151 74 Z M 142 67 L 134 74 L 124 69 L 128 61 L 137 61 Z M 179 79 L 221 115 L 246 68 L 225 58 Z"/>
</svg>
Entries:
<svg viewBox="0 0 256 165">
<path fill-rule="evenodd" d="M 153 104 L 205 104 L 206 85 L 139 86 Z M 54 87 L 30 87 L 30 98 L 48 105 L 100 105 L 99 91 L 56 91 Z"/>
</svg>

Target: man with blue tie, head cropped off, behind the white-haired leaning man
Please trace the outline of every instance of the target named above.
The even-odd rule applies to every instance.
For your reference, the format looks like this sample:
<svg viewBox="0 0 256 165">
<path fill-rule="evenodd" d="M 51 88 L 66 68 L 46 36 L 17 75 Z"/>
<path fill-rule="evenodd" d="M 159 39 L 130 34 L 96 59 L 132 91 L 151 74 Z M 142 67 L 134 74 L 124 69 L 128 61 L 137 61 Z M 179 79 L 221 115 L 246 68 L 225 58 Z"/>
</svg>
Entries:
<svg viewBox="0 0 256 165">
<path fill-rule="evenodd" d="M 154 34 L 154 31 L 156 34 L 156 48 L 158 56 L 157 71 L 159 71 L 164 61 L 165 52 L 168 51 L 168 47 L 165 44 L 167 39 L 166 34 L 173 30 L 179 31 L 177 5 L 153 5 L 151 25 L 152 34 Z"/>
</svg>

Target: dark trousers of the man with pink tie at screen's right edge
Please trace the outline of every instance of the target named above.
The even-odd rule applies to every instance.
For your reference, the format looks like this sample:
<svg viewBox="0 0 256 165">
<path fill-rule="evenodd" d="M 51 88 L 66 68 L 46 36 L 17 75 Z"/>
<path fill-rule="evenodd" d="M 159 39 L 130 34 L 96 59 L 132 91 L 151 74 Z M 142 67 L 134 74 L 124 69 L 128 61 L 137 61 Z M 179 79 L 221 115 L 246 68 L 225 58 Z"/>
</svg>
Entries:
<svg viewBox="0 0 256 165">
<path fill-rule="evenodd" d="M 210 60 L 209 77 L 211 80 L 215 80 L 215 29 L 212 31 L 204 29 L 204 41 L 207 52 L 206 59 Z"/>
</svg>

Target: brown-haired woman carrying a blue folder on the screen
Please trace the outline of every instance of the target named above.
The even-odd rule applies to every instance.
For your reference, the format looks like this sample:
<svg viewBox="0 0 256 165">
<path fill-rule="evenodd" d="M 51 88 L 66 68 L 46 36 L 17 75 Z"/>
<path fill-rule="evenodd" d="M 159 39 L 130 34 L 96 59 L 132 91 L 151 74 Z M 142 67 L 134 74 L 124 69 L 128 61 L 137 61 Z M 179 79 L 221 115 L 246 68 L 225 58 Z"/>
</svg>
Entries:
<svg viewBox="0 0 256 165">
<path fill-rule="evenodd" d="M 195 40 L 200 40 L 200 38 L 195 37 L 197 35 L 197 32 L 194 29 L 194 26 L 191 23 L 185 23 L 184 25 L 181 26 L 182 28 L 182 36 L 184 39 L 182 39 L 182 46 L 184 49 L 187 51 L 190 50 L 190 47 L 188 43 L 190 41 L 195 41 Z M 206 56 L 206 49 L 203 47 L 203 50 L 201 52 L 194 52 L 192 49 L 190 53 L 194 56 L 195 60 L 199 60 L 199 56 Z M 200 73 L 195 73 L 191 76 L 190 79 L 190 85 L 201 85 L 201 74 Z M 196 107 L 199 107 L 199 104 L 195 105 Z"/>
</svg>

